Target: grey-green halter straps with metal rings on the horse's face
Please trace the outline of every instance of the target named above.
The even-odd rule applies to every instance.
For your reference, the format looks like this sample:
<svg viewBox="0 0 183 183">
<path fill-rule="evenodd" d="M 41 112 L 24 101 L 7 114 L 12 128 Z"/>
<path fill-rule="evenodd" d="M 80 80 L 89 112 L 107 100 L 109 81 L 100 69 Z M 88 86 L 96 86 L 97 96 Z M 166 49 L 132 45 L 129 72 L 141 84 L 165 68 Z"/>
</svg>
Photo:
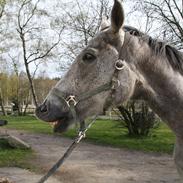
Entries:
<svg viewBox="0 0 183 183">
<path fill-rule="evenodd" d="M 102 93 L 104 91 L 111 90 L 111 98 L 114 91 L 120 86 L 120 81 L 118 80 L 118 72 L 122 71 L 124 69 L 123 60 L 118 59 L 115 62 L 115 71 L 112 77 L 112 80 L 85 93 L 82 93 L 79 96 L 70 95 L 68 97 L 65 97 L 65 93 L 60 91 L 58 88 L 53 88 L 52 93 L 56 95 L 61 101 L 65 102 L 67 106 L 69 107 L 73 119 L 77 121 L 77 112 L 76 112 L 76 106 L 79 102 L 87 100 L 99 93 Z"/>
</svg>

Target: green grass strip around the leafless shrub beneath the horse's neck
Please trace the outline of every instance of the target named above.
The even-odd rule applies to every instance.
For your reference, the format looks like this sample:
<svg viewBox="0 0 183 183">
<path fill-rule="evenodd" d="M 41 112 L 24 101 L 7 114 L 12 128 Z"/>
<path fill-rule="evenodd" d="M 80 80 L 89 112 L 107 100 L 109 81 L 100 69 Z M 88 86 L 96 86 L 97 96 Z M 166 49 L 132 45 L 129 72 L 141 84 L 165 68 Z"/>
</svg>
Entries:
<svg viewBox="0 0 183 183">
<path fill-rule="evenodd" d="M 70 130 L 66 136 L 73 137 L 74 134 L 75 131 Z M 165 124 L 153 130 L 149 137 L 129 137 L 127 130 L 121 127 L 120 122 L 97 120 L 87 132 L 87 140 L 97 144 L 144 152 L 172 153 L 175 137 Z"/>
</svg>

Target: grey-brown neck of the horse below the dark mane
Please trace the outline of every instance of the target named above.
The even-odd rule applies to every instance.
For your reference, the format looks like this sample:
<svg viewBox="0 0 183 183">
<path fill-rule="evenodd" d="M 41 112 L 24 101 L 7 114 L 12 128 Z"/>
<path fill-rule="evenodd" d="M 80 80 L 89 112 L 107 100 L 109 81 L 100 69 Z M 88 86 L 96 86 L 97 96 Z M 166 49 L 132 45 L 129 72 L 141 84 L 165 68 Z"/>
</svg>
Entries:
<svg viewBox="0 0 183 183">
<path fill-rule="evenodd" d="M 166 56 L 155 55 L 148 43 L 139 39 L 127 34 L 122 55 L 141 83 L 134 96 L 142 96 L 176 134 L 182 134 L 183 76 L 172 69 Z"/>
</svg>

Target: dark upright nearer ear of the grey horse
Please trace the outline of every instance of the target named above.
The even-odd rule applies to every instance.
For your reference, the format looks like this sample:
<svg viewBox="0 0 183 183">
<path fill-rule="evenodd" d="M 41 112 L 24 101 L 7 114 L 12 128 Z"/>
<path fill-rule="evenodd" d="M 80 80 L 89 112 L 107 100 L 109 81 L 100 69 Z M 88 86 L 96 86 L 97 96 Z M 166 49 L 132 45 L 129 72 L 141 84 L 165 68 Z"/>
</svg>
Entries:
<svg viewBox="0 0 183 183">
<path fill-rule="evenodd" d="M 114 5 L 111 13 L 111 27 L 117 33 L 124 23 L 124 10 L 120 0 L 114 0 Z"/>
</svg>

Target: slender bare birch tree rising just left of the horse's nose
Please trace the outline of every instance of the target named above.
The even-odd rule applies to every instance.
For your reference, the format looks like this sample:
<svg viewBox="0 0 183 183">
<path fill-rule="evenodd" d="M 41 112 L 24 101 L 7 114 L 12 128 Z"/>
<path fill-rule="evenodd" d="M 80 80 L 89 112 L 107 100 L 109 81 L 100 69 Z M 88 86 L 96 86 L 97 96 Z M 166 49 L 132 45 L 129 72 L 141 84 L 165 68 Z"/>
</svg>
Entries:
<svg viewBox="0 0 183 183">
<path fill-rule="evenodd" d="M 19 57 L 19 62 L 24 64 L 33 101 L 37 106 L 34 76 L 41 65 L 56 56 L 54 51 L 59 46 L 64 26 L 53 23 L 54 12 L 49 14 L 48 8 L 45 9 L 40 0 L 9 1 L 6 10 L 9 29 L 3 44 L 8 48 L 6 52 L 9 58 L 6 54 L 4 59 Z"/>
</svg>

